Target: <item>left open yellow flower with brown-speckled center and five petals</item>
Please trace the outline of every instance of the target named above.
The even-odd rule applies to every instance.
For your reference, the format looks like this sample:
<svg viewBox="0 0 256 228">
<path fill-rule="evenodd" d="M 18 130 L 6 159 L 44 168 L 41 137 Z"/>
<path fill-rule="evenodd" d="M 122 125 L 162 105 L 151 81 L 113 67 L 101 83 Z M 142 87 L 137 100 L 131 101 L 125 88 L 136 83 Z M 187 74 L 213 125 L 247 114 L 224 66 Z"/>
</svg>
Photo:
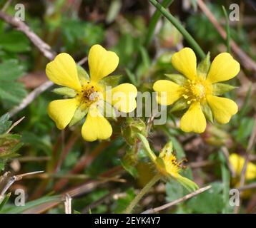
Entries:
<svg viewBox="0 0 256 228">
<path fill-rule="evenodd" d="M 60 53 L 47 64 L 46 75 L 57 85 L 64 86 L 60 89 L 72 97 L 49 103 L 48 113 L 57 128 L 64 129 L 69 123 L 76 122 L 75 117 L 81 120 L 87 114 L 82 136 L 84 140 L 92 142 L 106 140 L 112 135 L 112 126 L 104 118 L 104 107 L 110 104 L 121 112 L 131 112 L 136 108 L 137 88 L 129 83 L 107 88 L 102 83 L 102 79 L 118 66 L 116 53 L 94 45 L 89 51 L 88 62 L 90 77 L 82 76 L 72 56 Z"/>
</svg>

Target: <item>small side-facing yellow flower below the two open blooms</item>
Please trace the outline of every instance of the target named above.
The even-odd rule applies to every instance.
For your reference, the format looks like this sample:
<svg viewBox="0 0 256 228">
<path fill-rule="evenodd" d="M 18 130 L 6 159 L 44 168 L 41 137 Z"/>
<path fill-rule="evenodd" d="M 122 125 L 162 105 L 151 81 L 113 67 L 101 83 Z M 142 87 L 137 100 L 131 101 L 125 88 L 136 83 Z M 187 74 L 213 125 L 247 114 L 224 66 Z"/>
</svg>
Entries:
<svg viewBox="0 0 256 228">
<path fill-rule="evenodd" d="M 144 145 L 147 155 L 154 163 L 157 172 L 159 172 L 163 177 L 167 177 L 167 179 L 174 178 L 189 191 L 197 190 L 198 186 L 195 182 L 192 182 L 192 180 L 189 180 L 179 174 L 184 169 L 182 166 L 183 160 L 180 162 L 177 161 L 177 157 L 173 153 L 172 142 L 167 143 L 157 157 L 149 147 L 149 142 L 144 135 L 138 133 L 138 136 L 139 139 L 142 140 L 142 144 Z"/>
</svg>

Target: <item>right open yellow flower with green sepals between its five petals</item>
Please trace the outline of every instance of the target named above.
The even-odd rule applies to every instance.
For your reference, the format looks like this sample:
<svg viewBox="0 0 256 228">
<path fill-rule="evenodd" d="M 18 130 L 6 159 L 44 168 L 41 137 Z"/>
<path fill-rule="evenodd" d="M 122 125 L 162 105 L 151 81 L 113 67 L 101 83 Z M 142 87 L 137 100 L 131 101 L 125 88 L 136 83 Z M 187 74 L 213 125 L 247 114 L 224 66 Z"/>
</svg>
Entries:
<svg viewBox="0 0 256 228">
<path fill-rule="evenodd" d="M 234 78 L 240 71 L 240 64 L 229 53 L 220 53 L 211 66 L 209 61 L 209 64 L 197 68 L 194 51 L 183 48 L 172 56 L 172 66 L 184 77 L 169 75 L 176 83 L 159 80 L 154 83 L 153 89 L 157 92 L 159 104 L 174 104 L 175 108 L 179 106 L 179 110 L 187 108 L 180 121 L 180 128 L 184 132 L 203 133 L 206 128 L 205 116 L 210 121 L 214 118 L 218 123 L 225 124 L 237 113 L 234 101 L 217 96 L 234 88 L 220 82 Z"/>
</svg>

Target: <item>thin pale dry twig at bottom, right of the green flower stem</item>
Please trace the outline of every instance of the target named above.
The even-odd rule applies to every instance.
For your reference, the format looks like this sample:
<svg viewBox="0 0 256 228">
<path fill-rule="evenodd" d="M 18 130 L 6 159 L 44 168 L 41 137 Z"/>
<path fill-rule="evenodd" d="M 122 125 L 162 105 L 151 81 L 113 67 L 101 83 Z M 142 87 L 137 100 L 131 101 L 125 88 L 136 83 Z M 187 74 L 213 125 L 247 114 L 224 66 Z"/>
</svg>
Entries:
<svg viewBox="0 0 256 228">
<path fill-rule="evenodd" d="M 191 197 L 195 197 L 195 195 L 198 195 L 202 192 L 205 192 L 206 190 L 210 190 L 212 186 L 211 185 L 208 185 L 207 187 L 202 187 L 200 188 L 199 190 L 196 190 L 195 192 L 192 192 L 192 193 L 189 193 L 188 195 L 185 195 L 184 197 L 182 198 L 179 198 L 179 199 L 176 199 L 174 200 L 173 202 L 169 202 L 167 204 L 164 204 L 160 207 L 154 207 L 152 209 L 147 209 L 146 211 L 142 212 L 142 214 L 154 214 L 154 213 L 157 213 L 159 211 L 162 211 L 163 209 L 167 209 L 169 207 L 172 207 L 174 206 L 175 204 L 179 204 L 180 202 L 183 202 Z"/>
</svg>

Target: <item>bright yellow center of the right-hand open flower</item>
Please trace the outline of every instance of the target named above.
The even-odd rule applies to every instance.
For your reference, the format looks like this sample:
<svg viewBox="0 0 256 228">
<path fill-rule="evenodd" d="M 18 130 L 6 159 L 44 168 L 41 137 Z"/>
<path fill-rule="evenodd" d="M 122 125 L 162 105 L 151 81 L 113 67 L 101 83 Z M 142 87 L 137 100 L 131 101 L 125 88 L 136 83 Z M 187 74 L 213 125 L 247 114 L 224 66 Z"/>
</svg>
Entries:
<svg viewBox="0 0 256 228">
<path fill-rule="evenodd" d="M 182 96 L 187 100 L 188 105 L 193 101 L 204 102 L 207 93 L 211 90 L 210 84 L 205 80 L 187 80 L 184 88 Z"/>
</svg>

